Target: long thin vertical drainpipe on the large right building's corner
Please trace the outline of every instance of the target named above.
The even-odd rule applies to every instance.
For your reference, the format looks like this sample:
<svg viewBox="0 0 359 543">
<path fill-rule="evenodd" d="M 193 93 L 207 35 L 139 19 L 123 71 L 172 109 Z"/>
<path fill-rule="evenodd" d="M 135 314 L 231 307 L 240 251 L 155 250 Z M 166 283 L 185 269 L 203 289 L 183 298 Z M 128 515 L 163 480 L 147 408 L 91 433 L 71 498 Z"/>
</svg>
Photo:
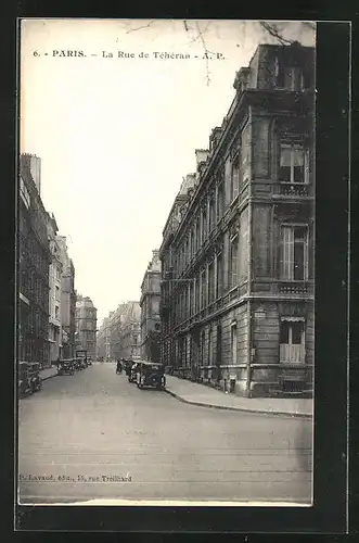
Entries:
<svg viewBox="0 0 359 543">
<path fill-rule="evenodd" d="M 253 180 L 253 144 L 252 144 L 252 105 L 249 105 L 249 118 L 248 118 L 248 124 L 251 127 L 251 179 L 249 179 L 249 185 L 248 185 L 248 289 L 247 289 L 247 294 L 248 294 L 248 301 L 247 301 L 247 361 L 246 361 L 246 394 L 248 397 L 251 397 L 251 381 L 252 381 L 252 338 L 253 338 L 253 323 L 252 323 L 252 282 L 253 282 L 253 245 L 252 245 L 252 238 L 253 238 L 253 213 L 252 213 L 252 180 Z"/>
</svg>

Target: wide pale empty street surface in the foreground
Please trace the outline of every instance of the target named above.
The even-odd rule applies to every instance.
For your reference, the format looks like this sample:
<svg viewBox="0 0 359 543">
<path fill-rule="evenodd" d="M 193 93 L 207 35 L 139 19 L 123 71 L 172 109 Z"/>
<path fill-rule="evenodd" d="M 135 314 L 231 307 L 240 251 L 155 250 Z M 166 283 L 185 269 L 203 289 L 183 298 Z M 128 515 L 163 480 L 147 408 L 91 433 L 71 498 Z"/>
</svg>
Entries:
<svg viewBox="0 0 359 543">
<path fill-rule="evenodd" d="M 184 404 L 113 364 L 20 402 L 20 503 L 309 503 L 311 422 Z"/>
</svg>

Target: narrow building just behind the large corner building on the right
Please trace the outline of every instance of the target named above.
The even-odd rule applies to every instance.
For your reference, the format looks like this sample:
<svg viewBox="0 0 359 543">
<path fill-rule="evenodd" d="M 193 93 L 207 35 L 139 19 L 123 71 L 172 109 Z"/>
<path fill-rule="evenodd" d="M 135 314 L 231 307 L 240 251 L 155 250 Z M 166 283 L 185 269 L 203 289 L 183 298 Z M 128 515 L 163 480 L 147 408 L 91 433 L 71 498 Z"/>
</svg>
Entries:
<svg viewBox="0 0 359 543">
<path fill-rule="evenodd" d="M 152 251 L 141 285 L 141 358 L 161 361 L 161 261 L 158 250 Z"/>
</svg>

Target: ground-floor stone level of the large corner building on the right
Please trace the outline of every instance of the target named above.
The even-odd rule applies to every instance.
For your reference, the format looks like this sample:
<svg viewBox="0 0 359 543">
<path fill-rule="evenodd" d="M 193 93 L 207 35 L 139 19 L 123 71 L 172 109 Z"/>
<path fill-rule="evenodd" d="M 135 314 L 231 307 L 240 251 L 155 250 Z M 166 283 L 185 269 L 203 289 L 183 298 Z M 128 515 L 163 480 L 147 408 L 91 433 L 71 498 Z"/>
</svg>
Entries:
<svg viewBox="0 0 359 543">
<path fill-rule="evenodd" d="M 313 343 L 312 302 L 247 299 L 167 338 L 163 362 L 241 395 L 310 394 Z"/>
</svg>

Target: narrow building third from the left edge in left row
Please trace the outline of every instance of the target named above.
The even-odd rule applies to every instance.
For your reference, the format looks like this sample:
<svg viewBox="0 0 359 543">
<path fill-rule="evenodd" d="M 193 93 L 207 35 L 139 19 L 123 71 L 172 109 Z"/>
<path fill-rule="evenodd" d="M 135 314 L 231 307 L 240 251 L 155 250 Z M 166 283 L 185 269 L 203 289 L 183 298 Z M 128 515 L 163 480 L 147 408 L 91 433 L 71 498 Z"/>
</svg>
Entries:
<svg viewBox="0 0 359 543">
<path fill-rule="evenodd" d="M 60 260 L 62 263 L 61 276 L 61 326 L 62 326 L 62 355 L 63 358 L 75 356 L 75 267 L 68 256 L 66 237 L 57 236 Z"/>
</svg>

